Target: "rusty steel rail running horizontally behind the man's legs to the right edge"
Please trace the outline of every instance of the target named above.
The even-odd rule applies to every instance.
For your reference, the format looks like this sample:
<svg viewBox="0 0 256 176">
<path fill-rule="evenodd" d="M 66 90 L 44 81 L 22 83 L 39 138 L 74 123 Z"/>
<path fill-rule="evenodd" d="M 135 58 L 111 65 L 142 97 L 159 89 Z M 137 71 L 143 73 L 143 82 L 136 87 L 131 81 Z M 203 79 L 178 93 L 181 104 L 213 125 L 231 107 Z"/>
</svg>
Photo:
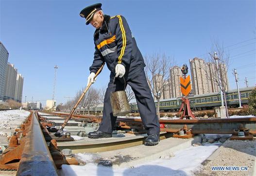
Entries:
<svg viewBox="0 0 256 176">
<path fill-rule="evenodd" d="M 65 113 L 61 113 L 65 114 Z M 75 115 L 75 117 L 85 117 L 83 115 Z M 85 117 L 86 118 L 86 117 Z M 90 117 L 93 119 L 93 116 Z M 99 120 L 100 121 L 100 120 Z M 120 128 L 142 128 L 141 119 L 117 118 Z M 209 118 L 209 119 L 170 119 L 160 120 L 162 125 L 161 131 L 177 132 L 184 125 L 191 129 L 193 134 L 231 134 L 234 129 L 238 129 L 242 124 L 244 128 L 250 129 L 250 133 L 256 134 L 256 117 L 245 118 Z"/>
</svg>

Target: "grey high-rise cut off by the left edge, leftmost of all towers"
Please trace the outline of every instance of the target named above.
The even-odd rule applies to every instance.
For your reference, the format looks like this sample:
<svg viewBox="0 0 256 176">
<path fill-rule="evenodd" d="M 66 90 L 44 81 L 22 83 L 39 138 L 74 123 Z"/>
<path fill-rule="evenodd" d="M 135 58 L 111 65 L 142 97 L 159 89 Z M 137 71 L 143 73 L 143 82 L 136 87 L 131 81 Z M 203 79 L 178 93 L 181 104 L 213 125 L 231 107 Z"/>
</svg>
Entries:
<svg viewBox="0 0 256 176">
<path fill-rule="evenodd" d="M 3 96 L 4 96 L 4 84 L 5 84 L 8 56 L 9 56 L 9 53 L 7 49 L 0 42 L 0 100 L 3 100 Z"/>
</svg>

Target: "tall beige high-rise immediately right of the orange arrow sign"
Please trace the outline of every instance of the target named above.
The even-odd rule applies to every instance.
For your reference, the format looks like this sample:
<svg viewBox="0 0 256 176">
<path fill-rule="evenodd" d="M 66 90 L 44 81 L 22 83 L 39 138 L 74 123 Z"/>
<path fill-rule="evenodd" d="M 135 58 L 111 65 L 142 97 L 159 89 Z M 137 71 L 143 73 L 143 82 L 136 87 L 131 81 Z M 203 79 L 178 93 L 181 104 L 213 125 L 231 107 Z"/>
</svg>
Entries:
<svg viewBox="0 0 256 176">
<path fill-rule="evenodd" d="M 208 91 L 208 84 L 206 78 L 205 61 L 203 59 L 194 58 L 189 59 L 190 72 L 192 77 L 192 92 L 194 95 L 206 94 Z"/>
</svg>

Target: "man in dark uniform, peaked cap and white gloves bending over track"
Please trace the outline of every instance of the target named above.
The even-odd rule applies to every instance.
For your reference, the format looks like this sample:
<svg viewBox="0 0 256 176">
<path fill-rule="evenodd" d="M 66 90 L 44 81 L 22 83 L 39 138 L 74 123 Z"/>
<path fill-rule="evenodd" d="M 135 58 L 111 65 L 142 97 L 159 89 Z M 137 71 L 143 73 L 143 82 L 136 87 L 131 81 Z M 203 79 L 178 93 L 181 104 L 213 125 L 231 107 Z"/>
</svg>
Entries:
<svg viewBox="0 0 256 176">
<path fill-rule="evenodd" d="M 106 63 L 111 72 L 104 97 L 102 123 L 99 130 L 90 132 L 88 137 L 112 137 L 117 117 L 112 113 L 110 93 L 123 90 L 127 83 L 135 93 L 143 127 L 148 133 L 145 145 L 156 145 L 159 142 L 159 121 L 145 76 L 143 57 L 126 19 L 123 16 L 103 15 L 101 6 L 101 3 L 93 4 L 80 13 L 80 16 L 86 19 L 86 25 L 90 23 L 96 28 L 94 60 L 89 68 L 88 83 L 94 82 L 95 73 L 103 63 Z"/>
</svg>

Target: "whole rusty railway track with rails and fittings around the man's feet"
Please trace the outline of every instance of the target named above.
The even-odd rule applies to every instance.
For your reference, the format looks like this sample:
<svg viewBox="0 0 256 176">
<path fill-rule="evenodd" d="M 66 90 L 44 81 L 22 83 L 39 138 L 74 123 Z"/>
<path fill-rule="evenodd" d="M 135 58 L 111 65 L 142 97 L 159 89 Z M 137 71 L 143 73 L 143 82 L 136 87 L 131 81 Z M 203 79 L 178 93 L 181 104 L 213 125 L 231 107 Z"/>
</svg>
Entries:
<svg viewBox="0 0 256 176">
<path fill-rule="evenodd" d="M 21 128 L 16 129 L 9 147 L 0 157 L 0 170 L 17 170 L 23 175 L 58 175 L 62 164 L 78 164 L 74 158 L 62 153 L 65 148 L 73 153 L 111 151 L 143 144 L 146 137 L 140 119 L 117 119 L 117 130 L 113 138 L 91 140 L 86 137 L 74 141 L 70 132 L 55 137 L 54 126 L 62 124 L 67 113 L 31 112 Z M 73 115 L 69 126 L 73 134 L 85 129 L 85 125 L 99 124 L 101 117 Z M 160 120 L 161 140 L 170 137 L 191 138 L 195 134 L 233 134 L 244 131 L 245 138 L 256 134 L 256 117 L 233 119 Z M 76 128 L 76 129 L 74 129 Z M 93 130 L 90 128 L 90 130 Z M 72 130 L 70 130 L 72 131 Z M 181 133 L 183 132 L 183 133 Z M 72 132 L 71 132 L 72 133 Z M 73 136 L 74 137 L 74 136 Z M 29 169 L 28 169 L 29 168 Z M 47 169 L 45 169 L 47 168 Z"/>
</svg>

